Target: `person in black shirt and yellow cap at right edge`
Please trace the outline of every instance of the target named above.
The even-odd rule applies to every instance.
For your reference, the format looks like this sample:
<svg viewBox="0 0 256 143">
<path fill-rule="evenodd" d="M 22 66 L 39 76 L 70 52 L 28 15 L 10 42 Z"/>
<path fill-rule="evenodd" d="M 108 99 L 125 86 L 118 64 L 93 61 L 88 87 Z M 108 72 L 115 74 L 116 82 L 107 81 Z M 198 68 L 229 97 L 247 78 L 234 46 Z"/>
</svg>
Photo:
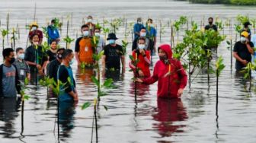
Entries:
<svg viewBox="0 0 256 143">
<path fill-rule="evenodd" d="M 251 62 L 251 55 L 254 54 L 253 43 L 248 40 L 249 33 L 242 32 L 241 40 L 235 43 L 233 56 L 235 57 L 235 69 L 240 71 L 242 68 Z"/>
</svg>

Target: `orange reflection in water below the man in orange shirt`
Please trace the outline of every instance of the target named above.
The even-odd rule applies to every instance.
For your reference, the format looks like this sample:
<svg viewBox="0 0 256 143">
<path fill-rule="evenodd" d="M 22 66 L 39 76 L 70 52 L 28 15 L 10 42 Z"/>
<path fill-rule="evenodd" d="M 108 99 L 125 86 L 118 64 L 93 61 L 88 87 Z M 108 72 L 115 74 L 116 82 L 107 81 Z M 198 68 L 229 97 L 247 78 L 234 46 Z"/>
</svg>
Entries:
<svg viewBox="0 0 256 143">
<path fill-rule="evenodd" d="M 93 68 L 77 68 L 76 78 L 82 80 L 85 85 L 91 83 L 91 76 L 95 76 Z"/>
</svg>

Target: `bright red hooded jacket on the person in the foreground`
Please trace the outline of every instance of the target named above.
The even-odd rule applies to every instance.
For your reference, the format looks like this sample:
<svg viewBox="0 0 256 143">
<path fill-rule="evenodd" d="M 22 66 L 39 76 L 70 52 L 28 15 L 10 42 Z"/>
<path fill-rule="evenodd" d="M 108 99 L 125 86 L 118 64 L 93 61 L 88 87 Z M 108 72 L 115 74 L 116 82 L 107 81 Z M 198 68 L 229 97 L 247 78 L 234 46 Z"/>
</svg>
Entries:
<svg viewBox="0 0 256 143">
<path fill-rule="evenodd" d="M 158 97 L 177 98 L 178 89 L 184 88 L 187 85 L 187 74 L 184 68 L 177 59 L 172 59 L 171 46 L 164 44 L 159 47 L 164 50 L 168 56 L 169 64 L 165 64 L 162 60 L 159 60 L 155 64 L 152 77 L 143 79 L 144 84 L 153 84 L 158 81 Z M 171 74 L 168 74 L 171 66 Z"/>
</svg>

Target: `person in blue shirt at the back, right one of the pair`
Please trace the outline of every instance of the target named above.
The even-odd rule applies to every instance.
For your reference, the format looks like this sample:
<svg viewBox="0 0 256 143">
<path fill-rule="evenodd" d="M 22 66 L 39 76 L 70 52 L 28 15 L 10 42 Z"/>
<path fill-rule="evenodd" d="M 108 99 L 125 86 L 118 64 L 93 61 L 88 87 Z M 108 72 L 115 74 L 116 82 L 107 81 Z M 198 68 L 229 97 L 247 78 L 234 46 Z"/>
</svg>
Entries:
<svg viewBox="0 0 256 143">
<path fill-rule="evenodd" d="M 147 21 L 146 30 L 147 30 L 146 36 L 149 37 L 154 43 L 154 50 L 152 51 L 152 56 L 155 56 L 155 52 L 156 52 L 155 44 L 156 44 L 156 33 L 157 33 L 157 31 L 154 27 L 153 20 L 151 18 L 149 18 L 148 21 Z"/>
</svg>

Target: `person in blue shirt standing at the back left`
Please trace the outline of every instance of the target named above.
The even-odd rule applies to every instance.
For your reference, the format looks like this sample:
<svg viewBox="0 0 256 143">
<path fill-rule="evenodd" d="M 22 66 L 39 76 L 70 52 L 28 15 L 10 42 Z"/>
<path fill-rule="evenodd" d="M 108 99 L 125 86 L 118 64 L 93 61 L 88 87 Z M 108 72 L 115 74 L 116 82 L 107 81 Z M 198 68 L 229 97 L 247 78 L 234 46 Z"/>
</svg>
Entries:
<svg viewBox="0 0 256 143">
<path fill-rule="evenodd" d="M 51 41 L 56 40 L 57 42 L 60 41 L 59 38 L 59 30 L 56 27 L 56 21 L 53 19 L 51 21 L 51 24 L 47 27 L 47 34 L 48 34 L 48 44 L 51 43 Z"/>
</svg>

